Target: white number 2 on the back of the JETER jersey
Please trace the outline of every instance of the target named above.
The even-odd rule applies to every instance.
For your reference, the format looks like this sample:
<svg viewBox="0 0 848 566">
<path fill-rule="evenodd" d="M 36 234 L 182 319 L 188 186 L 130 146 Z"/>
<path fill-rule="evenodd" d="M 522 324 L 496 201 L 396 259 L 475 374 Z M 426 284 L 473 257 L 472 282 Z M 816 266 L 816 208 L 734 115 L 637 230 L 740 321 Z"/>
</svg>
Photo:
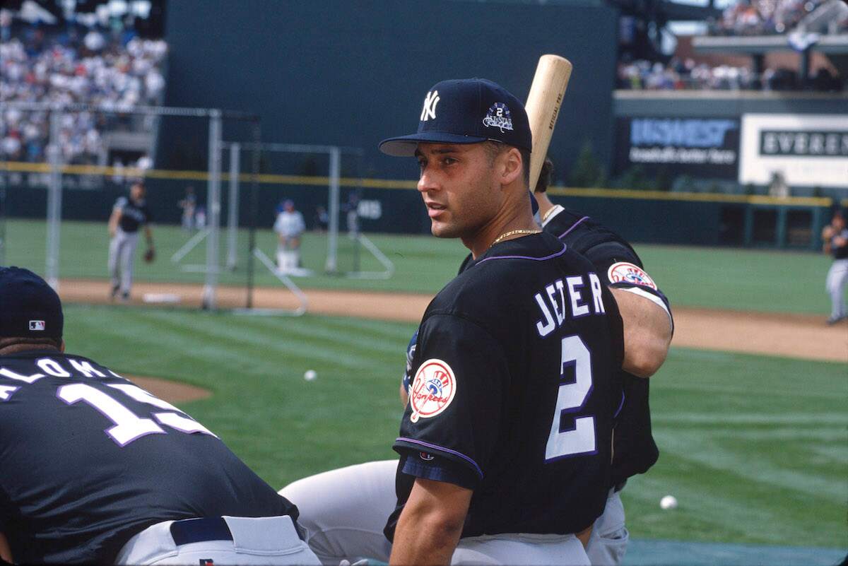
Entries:
<svg viewBox="0 0 848 566">
<path fill-rule="evenodd" d="M 566 366 L 572 365 L 574 383 L 562 384 L 556 394 L 554 419 L 550 424 L 548 446 L 544 451 L 545 462 L 592 453 L 596 449 L 594 417 L 577 417 L 574 419 L 574 428 L 560 430 L 563 413 L 573 413 L 582 408 L 592 390 L 592 357 L 589 348 L 576 335 L 562 339 L 560 375 L 565 374 Z"/>
</svg>

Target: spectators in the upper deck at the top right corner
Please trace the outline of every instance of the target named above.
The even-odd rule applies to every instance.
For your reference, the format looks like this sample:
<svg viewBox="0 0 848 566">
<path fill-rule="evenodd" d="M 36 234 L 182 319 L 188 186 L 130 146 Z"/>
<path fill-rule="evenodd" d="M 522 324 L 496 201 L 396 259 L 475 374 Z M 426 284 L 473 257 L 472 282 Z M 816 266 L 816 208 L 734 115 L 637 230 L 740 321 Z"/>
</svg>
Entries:
<svg viewBox="0 0 848 566">
<path fill-rule="evenodd" d="M 765 36 L 784 34 L 816 8 L 831 0 L 739 0 L 710 25 L 715 36 Z M 837 0 L 840 1 L 840 0 Z M 848 19 L 834 22 L 837 33 L 848 31 Z"/>
</svg>

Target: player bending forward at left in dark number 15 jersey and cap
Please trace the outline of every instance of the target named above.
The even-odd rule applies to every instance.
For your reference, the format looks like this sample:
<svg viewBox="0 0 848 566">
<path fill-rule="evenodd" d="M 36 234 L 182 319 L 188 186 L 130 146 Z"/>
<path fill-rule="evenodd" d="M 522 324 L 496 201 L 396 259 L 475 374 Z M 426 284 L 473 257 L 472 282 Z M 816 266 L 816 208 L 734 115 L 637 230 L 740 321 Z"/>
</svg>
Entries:
<svg viewBox="0 0 848 566">
<path fill-rule="evenodd" d="M 187 413 L 64 352 L 59 297 L 0 268 L 0 558 L 318 564 L 298 509 Z"/>
</svg>

